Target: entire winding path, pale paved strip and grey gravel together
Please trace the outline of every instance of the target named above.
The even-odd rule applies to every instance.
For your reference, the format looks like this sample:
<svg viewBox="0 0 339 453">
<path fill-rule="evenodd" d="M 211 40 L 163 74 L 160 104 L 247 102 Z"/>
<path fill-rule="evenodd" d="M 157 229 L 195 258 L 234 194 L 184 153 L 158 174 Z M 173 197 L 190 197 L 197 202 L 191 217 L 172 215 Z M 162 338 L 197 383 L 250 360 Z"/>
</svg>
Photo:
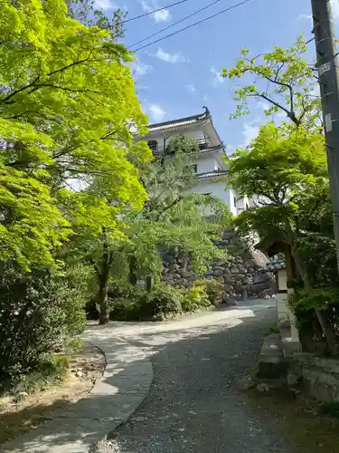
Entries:
<svg viewBox="0 0 339 453">
<path fill-rule="evenodd" d="M 150 357 L 155 381 L 136 415 L 112 434 L 112 452 L 290 453 L 275 434 L 274 420 L 260 422 L 236 388 L 275 319 L 274 310 L 257 308 L 89 330 L 87 339 L 107 357 L 102 381 L 67 410 L 57 410 L 56 401 L 51 422 L 1 451 L 87 452 L 145 399 L 152 379 Z"/>
</svg>

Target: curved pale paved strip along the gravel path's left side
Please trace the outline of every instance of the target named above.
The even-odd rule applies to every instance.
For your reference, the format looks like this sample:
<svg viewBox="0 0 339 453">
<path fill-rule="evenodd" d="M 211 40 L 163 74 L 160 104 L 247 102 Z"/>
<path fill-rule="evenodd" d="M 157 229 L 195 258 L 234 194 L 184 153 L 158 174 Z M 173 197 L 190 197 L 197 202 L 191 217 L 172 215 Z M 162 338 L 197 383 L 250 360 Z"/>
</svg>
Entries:
<svg viewBox="0 0 339 453">
<path fill-rule="evenodd" d="M 5 443 L 3 453 L 88 453 L 131 417 L 153 381 L 152 362 L 140 348 L 107 336 L 104 330 L 83 337 L 105 354 L 107 362 L 89 395 L 46 425 Z"/>
</svg>

